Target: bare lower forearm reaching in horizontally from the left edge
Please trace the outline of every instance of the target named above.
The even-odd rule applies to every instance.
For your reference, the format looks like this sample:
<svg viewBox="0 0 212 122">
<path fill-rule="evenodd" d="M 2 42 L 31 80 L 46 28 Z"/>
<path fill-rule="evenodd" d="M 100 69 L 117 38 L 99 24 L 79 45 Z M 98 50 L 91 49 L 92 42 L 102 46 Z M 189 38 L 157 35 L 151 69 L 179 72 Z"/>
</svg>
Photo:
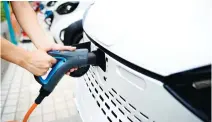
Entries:
<svg viewBox="0 0 212 122">
<path fill-rule="evenodd" d="M 14 64 L 25 67 L 26 59 L 28 58 L 28 51 L 24 50 L 21 47 L 15 46 L 10 43 L 8 40 L 1 37 L 1 58 L 5 59 Z"/>
</svg>

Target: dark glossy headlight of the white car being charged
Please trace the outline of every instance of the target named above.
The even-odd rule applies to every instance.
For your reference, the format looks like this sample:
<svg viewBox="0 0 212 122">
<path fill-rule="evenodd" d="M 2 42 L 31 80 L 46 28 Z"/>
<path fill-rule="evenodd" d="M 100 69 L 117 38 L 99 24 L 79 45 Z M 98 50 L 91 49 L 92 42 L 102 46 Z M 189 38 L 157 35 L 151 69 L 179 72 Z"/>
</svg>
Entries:
<svg viewBox="0 0 212 122">
<path fill-rule="evenodd" d="M 211 120 L 211 65 L 176 73 L 164 87 L 204 121 Z"/>
</svg>

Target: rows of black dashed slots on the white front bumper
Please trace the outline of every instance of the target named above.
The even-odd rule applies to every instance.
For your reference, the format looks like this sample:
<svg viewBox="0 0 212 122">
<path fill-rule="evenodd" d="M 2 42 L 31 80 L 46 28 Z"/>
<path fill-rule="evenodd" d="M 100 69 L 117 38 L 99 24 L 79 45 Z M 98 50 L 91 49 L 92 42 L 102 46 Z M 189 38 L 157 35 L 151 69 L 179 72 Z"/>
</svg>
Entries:
<svg viewBox="0 0 212 122">
<path fill-rule="evenodd" d="M 96 79 L 93 67 L 84 75 L 83 79 L 92 98 L 96 101 L 100 111 L 105 115 L 108 122 L 144 122 L 148 117 L 139 111 L 136 106 L 127 101 L 127 98 L 119 94 L 114 88 L 104 90 Z M 105 76 L 104 76 L 105 77 Z M 106 81 L 106 77 L 104 78 Z M 115 110 L 116 109 L 116 110 Z M 125 118 L 123 120 L 123 117 Z"/>
</svg>

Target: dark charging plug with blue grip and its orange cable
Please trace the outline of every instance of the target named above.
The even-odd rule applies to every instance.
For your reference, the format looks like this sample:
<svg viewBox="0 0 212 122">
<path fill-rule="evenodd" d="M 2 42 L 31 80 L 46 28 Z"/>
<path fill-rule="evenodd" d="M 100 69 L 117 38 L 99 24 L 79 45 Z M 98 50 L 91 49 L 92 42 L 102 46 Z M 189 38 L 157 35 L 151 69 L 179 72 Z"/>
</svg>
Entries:
<svg viewBox="0 0 212 122">
<path fill-rule="evenodd" d="M 57 83 L 69 69 L 75 66 L 93 65 L 99 66 L 104 72 L 106 71 L 105 54 L 100 49 L 93 52 L 88 52 L 87 49 L 78 49 L 75 51 L 49 51 L 48 54 L 59 61 L 54 65 L 46 79 L 35 76 L 35 79 L 42 85 L 42 87 L 40 89 L 40 94 L 35 99 L 35 103 L 25 115 L 24 122 L 27 122 L 32 111 L 45 97 L 49 96 Z"/>
</svg>

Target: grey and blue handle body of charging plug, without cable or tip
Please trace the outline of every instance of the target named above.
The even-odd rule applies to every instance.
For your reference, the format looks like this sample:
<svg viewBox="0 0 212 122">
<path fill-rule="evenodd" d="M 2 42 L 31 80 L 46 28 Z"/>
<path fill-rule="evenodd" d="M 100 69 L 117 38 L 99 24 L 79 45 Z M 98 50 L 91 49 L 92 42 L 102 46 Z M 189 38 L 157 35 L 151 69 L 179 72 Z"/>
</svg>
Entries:
<svg viewBox="0 0 212 122">
<path fill-rule="evenodd" d="M 78 49 L 75 51 L 51 51 L 49 55 L 57 59 L 57 63 L 52 67 L 52 70 L 43 79 L 41 76 L 34 76 L 42 87 L 51 92 L 60 81 L 60 79 L 73 67 L 87 65 L 88 50 Z"/>
</svg>

